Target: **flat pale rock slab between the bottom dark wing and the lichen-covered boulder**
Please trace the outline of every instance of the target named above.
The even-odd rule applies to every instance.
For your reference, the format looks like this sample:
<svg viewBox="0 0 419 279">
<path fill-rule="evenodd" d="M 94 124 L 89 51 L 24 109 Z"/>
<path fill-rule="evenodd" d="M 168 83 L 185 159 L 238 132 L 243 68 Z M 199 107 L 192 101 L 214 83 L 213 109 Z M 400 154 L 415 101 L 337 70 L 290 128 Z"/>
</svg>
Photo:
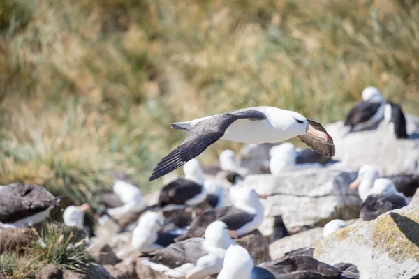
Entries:
<svg viewBox="0 0 419 279">
<path fill-rule="evenodd" d="M 323 227 L 315 227 L 298 234 L 291 236 L 285 236 L 282 239 L 278 239 L 273 243 L 270 243 L 269 253 L 272 259 L 279 259 L 284 256 L 284 253 L 291 250 L 312 247 L 323 239 Z"/>
</svg>

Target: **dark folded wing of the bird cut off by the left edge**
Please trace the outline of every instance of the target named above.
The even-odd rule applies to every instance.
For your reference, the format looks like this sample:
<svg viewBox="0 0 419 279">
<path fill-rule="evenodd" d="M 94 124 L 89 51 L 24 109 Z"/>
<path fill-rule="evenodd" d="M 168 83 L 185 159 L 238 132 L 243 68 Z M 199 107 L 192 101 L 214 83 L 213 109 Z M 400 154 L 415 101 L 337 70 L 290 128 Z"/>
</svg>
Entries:
<svg viewBox="0 0 419 279">
<path fill-rule="evenodd" d="M 14 183 L 0 189 L 0 222 L 17 220 L 57 206 L 56 198 L 41 186 Z"/>
</svg>

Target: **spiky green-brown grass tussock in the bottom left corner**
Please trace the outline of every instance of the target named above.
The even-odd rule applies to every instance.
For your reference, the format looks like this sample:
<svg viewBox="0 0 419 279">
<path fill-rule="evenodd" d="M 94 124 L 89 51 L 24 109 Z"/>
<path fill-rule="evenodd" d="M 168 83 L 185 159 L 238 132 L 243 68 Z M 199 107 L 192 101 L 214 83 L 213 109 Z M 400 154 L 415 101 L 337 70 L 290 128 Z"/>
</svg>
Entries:
<svg viewBox="0 0 419 279">
<path fill-rule="evenodd" d="M 37 234 L 45 246 L 34 241 L 23 248 L 23 253 L 9 250 L 0 255 L 0 278 L 1 275 L 11 279 L 36 278 L 47 264 L 87 273 L 94 263 L 87 252 L 88 244 L 72 227 L 62 223 L 44 223 L 38 227 Z"/>
</svg>

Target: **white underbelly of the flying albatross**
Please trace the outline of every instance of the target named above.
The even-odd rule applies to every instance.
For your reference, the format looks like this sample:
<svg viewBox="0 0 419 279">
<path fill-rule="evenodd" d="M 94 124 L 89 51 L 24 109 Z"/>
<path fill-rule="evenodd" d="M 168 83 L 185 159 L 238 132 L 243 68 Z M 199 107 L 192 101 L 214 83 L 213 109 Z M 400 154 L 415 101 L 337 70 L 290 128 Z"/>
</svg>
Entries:
<svg viewBox="0 0 419 279">
<path fill-rule="evenodd" d="M 244 144 L 283 142 L 291 138 L 284 131 L 275 130 L 267 120 L 239 119 L 231 124 L 221 139 Z"/>
</svg>

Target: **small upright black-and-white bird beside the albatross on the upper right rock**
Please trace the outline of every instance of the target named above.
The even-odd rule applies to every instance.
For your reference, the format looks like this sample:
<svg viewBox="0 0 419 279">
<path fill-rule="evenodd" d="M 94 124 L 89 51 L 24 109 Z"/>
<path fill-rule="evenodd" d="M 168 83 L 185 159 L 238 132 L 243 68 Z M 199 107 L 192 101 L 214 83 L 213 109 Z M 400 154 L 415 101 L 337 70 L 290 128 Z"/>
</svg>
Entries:
<svg viewBox="0 0 419 279">
<path fill-rule="evenodd" d="M 404 117 L 402 107 L 395 103 L 387 102 L 384 110 L 384 119 L 388 130 L 397 139 L 407 139 L 409 137 L 406 131 L 406 118 Z"/>
</svg>

